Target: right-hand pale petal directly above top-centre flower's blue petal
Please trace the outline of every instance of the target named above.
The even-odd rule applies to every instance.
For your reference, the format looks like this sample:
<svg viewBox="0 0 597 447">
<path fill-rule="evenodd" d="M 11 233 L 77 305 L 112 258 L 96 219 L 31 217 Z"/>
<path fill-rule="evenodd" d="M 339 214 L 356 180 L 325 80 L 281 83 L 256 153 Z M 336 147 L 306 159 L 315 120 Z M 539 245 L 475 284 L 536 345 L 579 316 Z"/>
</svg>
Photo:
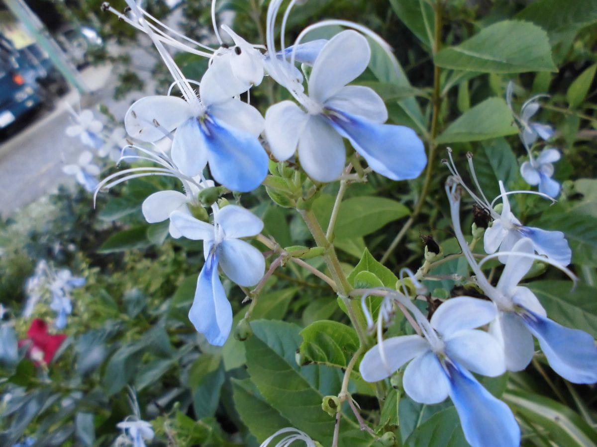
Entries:
<svg viewBox="0 0 597 447">
<path fill-rule="evenodd" d="M 387 120 L 387 108 L 380 96 L 369 87 L 347 85 L 325 101 L 325 107 L 361 116 L 376 123 Z"/>
</svg>

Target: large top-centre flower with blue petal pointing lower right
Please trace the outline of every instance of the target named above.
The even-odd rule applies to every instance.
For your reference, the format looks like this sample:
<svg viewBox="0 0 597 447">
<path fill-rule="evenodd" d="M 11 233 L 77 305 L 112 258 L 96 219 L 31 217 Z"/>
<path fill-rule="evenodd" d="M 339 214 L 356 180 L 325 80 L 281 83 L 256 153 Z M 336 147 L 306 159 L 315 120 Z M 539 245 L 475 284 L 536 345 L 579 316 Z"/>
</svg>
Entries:
<svg viewBox="0 0 597 447">
<path fill-rule="evenodd" d="M 405 126 L 383 124 L 386 106 L 372 89 L 346 85 L 364 72 L 370 57 L 364 36 L 353 30 L 338 33 L 313 63 L 308 96 L 284 67 L 276 71 L 272 61 L 272 76 L 302 107 L 282 101 L 267 110 L 265 134 L 276 159 L 287 160 L 297 151 L 312 179 L 334 181 L 346 162 L 344 137 L 371 169 L 387 178 L 411 179 L 421 173 L 427 159 L 417 134 Z"/>
</svg>

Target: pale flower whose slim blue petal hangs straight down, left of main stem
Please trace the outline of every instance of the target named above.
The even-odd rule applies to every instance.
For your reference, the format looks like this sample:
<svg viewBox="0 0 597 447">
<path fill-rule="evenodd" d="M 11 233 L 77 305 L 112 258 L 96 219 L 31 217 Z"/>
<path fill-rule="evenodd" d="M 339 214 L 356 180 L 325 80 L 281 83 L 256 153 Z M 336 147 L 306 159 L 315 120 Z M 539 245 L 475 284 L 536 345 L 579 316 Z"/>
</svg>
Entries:
<svg viewBox="0 0 597 447">
<path fill-rule="evenodd" d="M 239 238 L 259 234 L 263 222 L 236 205 L 216 207 L 213 225 L 180 211 L 171 213 L 170 221 L 184 237 L 204 241 L 205 264 L 199 273 L 189 319 L 210 344 L 222 346 L 232 328 L 232 307 L 218 267 L 238 285 L 248 287 L 259 283 L 265 271 L 263 254 Z"/>
</svg>

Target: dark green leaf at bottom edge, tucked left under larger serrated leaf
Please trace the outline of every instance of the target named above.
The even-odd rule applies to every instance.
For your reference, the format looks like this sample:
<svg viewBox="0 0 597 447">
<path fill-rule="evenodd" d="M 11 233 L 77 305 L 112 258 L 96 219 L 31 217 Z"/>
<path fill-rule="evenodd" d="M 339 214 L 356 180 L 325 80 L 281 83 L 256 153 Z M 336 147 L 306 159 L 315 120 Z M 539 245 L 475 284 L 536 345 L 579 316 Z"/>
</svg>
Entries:
<svg viewBox="0 0 597 447">
<path fill-rule="evenodd" d="M 232 390 L 235 409 L 258 442 L 263 442 L 279 429 L 292 426 L 290 421 L 267 403 L 250 379 L 233 378 Z"/>
</svg>

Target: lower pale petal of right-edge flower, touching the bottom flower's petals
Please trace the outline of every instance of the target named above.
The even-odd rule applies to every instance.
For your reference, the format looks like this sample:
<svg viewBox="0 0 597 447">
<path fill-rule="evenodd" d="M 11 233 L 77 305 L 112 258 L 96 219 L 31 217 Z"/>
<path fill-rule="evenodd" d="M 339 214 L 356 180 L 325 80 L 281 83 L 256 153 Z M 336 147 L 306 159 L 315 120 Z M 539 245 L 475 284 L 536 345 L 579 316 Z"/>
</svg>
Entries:
<svg viewBox="0 0 597 447">
<path fill-rule="evenodd" d="M 504 346 L 506 369 L 522 371 L 530 364 L 535 353 L 533 336 L 522 318 L 514 312 L 500 312 L 490 325 L 491 334 Z"/>
</svg>

